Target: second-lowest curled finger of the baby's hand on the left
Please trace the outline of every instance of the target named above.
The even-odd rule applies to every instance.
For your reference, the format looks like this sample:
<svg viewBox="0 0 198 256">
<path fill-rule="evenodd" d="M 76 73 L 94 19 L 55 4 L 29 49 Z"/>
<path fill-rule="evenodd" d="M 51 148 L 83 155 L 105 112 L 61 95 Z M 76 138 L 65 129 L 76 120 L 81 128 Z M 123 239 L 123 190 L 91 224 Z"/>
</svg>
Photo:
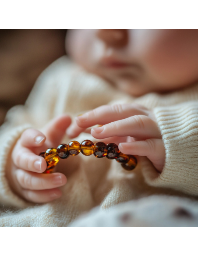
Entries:
<svg viewBox="0 0 198 256">
<path fill-rule="evenodd" d="M 67 178 L 62 173 L 37 174 L 21 169 L 16 170 L 16 178 L 22 188 L 32 190 L 57 188 L 67 182 Z"/>
</svg>

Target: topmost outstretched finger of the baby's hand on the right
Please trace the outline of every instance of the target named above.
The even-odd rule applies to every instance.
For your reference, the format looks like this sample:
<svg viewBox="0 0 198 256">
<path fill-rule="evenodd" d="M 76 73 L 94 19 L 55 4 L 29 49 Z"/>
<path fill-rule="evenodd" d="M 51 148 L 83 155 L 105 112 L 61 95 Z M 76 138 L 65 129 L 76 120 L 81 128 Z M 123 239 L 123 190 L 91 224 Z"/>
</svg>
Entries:
<svg viewBox="0 0 198 256">
<path fill-rule="evenodd" d="M 108 124 L 134 115 L 148 115 L 148 110 L 138 104 L 104 105 L 76 117 L 76 122 L 79 127 L 87 128 L 95 124 Z"/>
</svg>

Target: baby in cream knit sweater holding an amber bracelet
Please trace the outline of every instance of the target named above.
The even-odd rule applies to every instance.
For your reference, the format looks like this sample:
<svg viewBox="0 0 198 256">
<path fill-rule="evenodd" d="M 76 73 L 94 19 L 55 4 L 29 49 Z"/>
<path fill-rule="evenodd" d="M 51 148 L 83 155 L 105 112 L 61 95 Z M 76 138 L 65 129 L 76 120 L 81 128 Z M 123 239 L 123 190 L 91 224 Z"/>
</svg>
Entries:
<svg viewBox="0 0 198 256">
<path fill-rule="evenodd" d="M 69 31 L 69 56 L 88 73 L 63 57 L 38 79 L 25 107 L 8 113 L 0 202 L 26 207 L 60 198 L 45 207 L 64 213 L 57 225 L 65 226 L 99 204 L 198 196 L 197 46 L 198 30 Z M 76 137 L 117 143 L 138 166 L 127 172 L 116 161 L 78 156 L 42 174 L 39 153 Z"/>
</svg>

